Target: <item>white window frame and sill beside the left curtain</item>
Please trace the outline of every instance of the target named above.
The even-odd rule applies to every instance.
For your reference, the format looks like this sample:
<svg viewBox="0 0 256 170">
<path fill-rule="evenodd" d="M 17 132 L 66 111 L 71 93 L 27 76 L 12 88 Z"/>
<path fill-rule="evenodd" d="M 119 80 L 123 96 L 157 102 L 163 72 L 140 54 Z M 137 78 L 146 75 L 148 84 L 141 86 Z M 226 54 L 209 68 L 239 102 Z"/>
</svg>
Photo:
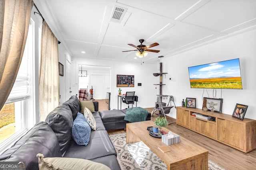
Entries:
<svg viewBox="0 0 256 170">
<path fill-rule="evenodd" d="M 35 74 L 35 22 L 30 18 L 30 28 L 29 31 L 32 33 L 31 43 L 30 43 L 30 59 L 28 60 L 29 65 L 29 90 L 28 94 L 23 96 L 14 96 L 8 98 L 5 104 L 15 102 L 15 122 L 22 120 L 22 123 L 18 124 L 15 129 L 15 133 L 10 136 L 8 139 L 0 143 L 0 154 L 4 150 L 10 148 L 20 137 L 25 135 L 36 123 L 36 93 L 35 93 L 35 79 L 38 79 L 39 75 Z M 29 40 L 29 39 L 27 39 Z M 39 46 L 39 45 L 38 45 Z M 26 48 L 26 47 L 25 47 Z M 39 48 L 38 48 L 39 49 Z M 40 50 L 39 50 L 40 51 Z M 26 55 L 26 54 L 24 54 Z M 37 67 L 37 66 L 36 66 Z M 39 113 L 38 113 L 39 114 Z"/>
</svg>

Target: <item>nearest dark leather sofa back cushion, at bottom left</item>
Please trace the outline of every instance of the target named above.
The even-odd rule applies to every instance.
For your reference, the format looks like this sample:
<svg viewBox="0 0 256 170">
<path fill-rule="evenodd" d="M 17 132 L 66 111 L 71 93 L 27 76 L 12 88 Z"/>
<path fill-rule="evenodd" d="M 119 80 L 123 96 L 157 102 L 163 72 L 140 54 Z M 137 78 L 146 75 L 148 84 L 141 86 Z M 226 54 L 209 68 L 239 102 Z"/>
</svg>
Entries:
<svg viewBox="0 0 256 170">
<path fill-rule="evenodd" d="M 58 139 L 46 122 L 39 122 L 21 137 L 10 149 L 0 155 L 0 161 L 26 162 L 26 169 L 38 170 L 36 154 L 47 157 L 61 157 Z"/>
</svg>

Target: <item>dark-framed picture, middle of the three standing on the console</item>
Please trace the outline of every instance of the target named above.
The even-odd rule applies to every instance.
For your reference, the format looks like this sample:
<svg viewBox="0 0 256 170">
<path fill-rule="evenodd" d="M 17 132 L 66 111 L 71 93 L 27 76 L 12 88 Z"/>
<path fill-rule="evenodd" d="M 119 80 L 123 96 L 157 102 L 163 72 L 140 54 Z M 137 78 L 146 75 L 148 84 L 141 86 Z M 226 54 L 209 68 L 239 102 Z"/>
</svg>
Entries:
<svg viewBox="0 0 256 170">
<path fill-rule="evenodd" d="M 222 103 L 223 99 L 222 98 L 206 98 L 206 108 L 209 111 L 216 112 L 216 113 L 222 113 Z"/>
</svg>

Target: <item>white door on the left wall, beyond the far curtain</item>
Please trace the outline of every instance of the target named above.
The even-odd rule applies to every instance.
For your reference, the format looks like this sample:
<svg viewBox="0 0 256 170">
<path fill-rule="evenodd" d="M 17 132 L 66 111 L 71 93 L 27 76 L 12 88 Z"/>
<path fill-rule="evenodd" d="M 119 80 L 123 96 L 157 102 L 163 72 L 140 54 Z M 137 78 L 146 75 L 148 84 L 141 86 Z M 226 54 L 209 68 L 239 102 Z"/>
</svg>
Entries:
<svg viewBox="0 0 256 170">
<path fill-rule="evenodd" d="M 65 55 L 65 89 L 66 89 L 66 101 L 71 97 L 71 82 L 70 82 L 70 61 L 66 58 Z"/>
</svg>

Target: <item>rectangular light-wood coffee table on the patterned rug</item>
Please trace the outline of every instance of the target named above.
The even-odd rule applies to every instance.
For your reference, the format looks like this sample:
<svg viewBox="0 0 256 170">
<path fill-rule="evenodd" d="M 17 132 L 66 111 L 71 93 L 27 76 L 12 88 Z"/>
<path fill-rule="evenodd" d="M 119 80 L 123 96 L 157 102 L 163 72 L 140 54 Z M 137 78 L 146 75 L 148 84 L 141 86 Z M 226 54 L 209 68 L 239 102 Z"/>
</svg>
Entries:
<svg viewBox="0 0 256 170">
<path fill-rule="evenodd" d="M 166 145 L 159 138 L 151 137 L 147 127 L 153 126 L 153 121 L 140 121 L 126 124 L 126 144 L 144 142 L 170 170 L 208 170 L 208 150 L 180 137 L 180 143 Z M 162 128 L 166 133 L 168 129 Z M 158 147 L 168 146 L 170 151 L 162 152 Z"/>
</svg>

